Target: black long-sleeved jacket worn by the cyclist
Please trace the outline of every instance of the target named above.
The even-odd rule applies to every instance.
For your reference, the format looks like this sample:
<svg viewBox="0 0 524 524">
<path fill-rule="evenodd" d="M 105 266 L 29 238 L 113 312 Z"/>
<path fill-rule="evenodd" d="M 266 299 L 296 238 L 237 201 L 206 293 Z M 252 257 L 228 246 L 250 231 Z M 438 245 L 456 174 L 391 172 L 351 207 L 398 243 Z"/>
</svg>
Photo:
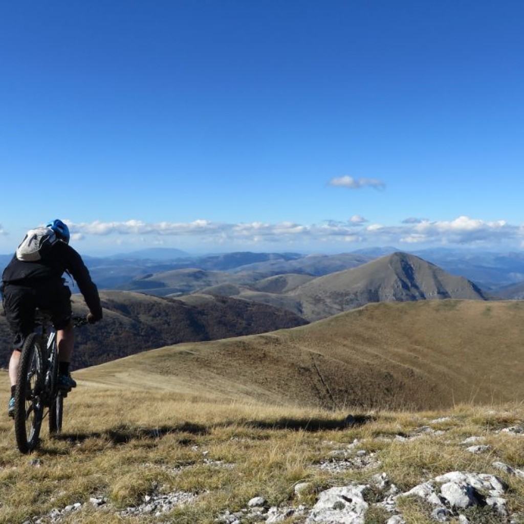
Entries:
<svg viewBox="0 0 524 524">
<path fill-rule="evenodd" d="M 61 283 L 62 275 L 66 271 L 77 282 L 91 313 L 102 318 L 99 293 L 91 280 L 89 270 L 85 267 L 82 257 L 65 242 L 53 244 L 50 252 L 41 260 L 23 262 L 15 255 L 4 269 L 2 280 L 6 284 L 29 287 L 53 280 Z"/>
</svg>

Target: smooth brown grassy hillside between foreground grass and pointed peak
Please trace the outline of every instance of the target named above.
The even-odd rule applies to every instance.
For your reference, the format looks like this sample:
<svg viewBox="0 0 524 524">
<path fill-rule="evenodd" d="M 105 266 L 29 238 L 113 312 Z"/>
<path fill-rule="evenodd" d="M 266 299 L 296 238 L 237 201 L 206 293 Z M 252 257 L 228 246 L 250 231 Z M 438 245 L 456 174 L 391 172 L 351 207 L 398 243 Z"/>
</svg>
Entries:
<svg viewBox="0 0 524 524">
<path fill-rule="evenodd" d="M 369 304 L 299 328 L 179 344 L 77 373 L 224 400 L 434 409 L 524 397 L 524 303 Z"/>
</svg>

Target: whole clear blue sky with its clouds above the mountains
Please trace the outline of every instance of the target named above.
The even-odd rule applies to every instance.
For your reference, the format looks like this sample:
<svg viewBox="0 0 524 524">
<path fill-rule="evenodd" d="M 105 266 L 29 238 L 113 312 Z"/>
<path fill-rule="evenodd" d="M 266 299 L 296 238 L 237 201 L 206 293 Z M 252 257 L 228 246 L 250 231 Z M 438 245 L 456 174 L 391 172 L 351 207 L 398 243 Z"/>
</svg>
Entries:
<svg viewBox="0 0 524 524">
<path fill-rule="evenodd" d="M 524 3 L 0 1 L 0 253 L 522 249 Z"/>
</svg>

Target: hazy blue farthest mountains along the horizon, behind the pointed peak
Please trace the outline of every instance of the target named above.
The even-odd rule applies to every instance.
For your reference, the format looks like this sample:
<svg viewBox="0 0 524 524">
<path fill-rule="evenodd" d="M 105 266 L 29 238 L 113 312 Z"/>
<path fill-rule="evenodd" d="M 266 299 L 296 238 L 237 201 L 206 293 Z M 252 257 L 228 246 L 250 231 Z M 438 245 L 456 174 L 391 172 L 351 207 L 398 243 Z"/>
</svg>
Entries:
<svg viewBox="0 0 524 524">
<path fill-rule="evenodd" d="M 176 269 L 202 269 L 244 274 L 253 280 L 282 274 L 322 276 L 350 269 L 357 265 L 398 252 L 395 247 L 359 249 L 335 255 L 304 255 L 300 253 L 234 252 L 210 255 L 189 255 L 179 249 L 143 249 L 132 253 L 90 257 L 84 256 L 93 280 L 99 289 L 140 290 L 147 276 Z M 452 275 L 462 276 L 491 294 L 524 281 L 524 253 L 487 252 L 481 250 L 434 248 L 413 250 L 409 254 L 439 266 Z M 0 271 L 12 255 L 0 255 Z M 251 275 L 251 276 L 249 276 Z M 242 280 L 239 280 L 242 282 Z M 154 289 L 149 285 L 148 292 Z M 156 290 L 156 294 L 168 291 Z"/>
</svg>

